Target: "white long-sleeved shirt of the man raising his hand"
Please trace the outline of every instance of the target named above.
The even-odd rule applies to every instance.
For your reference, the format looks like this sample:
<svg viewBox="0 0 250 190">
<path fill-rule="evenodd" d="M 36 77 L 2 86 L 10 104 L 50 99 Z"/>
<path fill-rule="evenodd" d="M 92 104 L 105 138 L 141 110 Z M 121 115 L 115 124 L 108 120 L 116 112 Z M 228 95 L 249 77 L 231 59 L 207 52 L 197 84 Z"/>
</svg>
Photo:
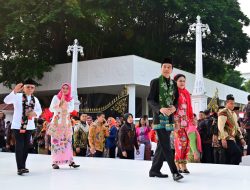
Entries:
<svg viewBox="0 0 250 190">
<path fill-rule="evenodd" d="M 41 113 L 42 113 L 42 108 L 39 103 L 39 100 L 35 98 L 35 107 L 34 107 L 34 112 L 36 113 L 36 117 L 38 118 Z M 4 98 L 4 103 L 6 104 L 13 104 L 14 106 L 14 115 L 13 115 L 13 120 L 11 124 L 11 129 L 20 129 L 21 128 L 21 120 L 22 120 L 22 112 L 23 112 L 23 93 L 14 93 L 12 91 L 8 96 Z M 31 100 L 31 96 L 27 96 L 28 103 Z M 31 120 L 28 120 L 28 125 L 27 125 L 27 130 L 34 130 L 35 127 L 35 122 L 34 118 Z"/>
</svg>

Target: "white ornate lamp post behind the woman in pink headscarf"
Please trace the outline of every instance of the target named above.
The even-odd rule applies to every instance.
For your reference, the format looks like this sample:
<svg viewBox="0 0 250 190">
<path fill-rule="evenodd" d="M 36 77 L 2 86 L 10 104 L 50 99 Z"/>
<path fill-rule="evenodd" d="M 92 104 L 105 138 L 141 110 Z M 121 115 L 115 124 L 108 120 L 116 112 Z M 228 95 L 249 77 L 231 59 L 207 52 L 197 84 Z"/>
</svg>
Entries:
<svg viewBox="0 0 250 190">
<path fill-rule="evenodd" d="M 83 47 L 78 45 L 78 40 L 74 40 L 74 44 L 68 46 L 67 54 L 71 56 L 71 52 L 73 52 L 72 56 L 72 69 L 71 69 L 71 89 L 72 96 L 74 98 L 75 106 L 74 109 L 79 111 L 80 101 L 78 100 L 77 94 L 77 62 L 78 62 L 78 52 L 80 52 L 81 56 L 84 56 Z"/>
</svg>

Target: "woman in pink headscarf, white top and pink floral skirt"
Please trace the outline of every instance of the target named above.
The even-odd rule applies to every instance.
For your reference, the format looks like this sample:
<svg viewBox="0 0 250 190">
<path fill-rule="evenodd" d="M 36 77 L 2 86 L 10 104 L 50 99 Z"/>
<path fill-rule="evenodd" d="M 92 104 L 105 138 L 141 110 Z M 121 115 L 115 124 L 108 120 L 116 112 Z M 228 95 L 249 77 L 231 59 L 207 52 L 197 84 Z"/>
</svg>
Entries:
<svg viewBox="0 0 250 190">
<path fill-rule="evenodd" d="M 71 96 L 70 84 L 62 84 L 49 109 L 54 113 L 48 129 L 48 134 L 51 135 L 52 167 L 59 169 L 59 165 L 69 164 L 70 167 L 78 168 L 80 165 L 73 161 L 70 113 L 74 110 L 74 99 Z"/>
</svg>

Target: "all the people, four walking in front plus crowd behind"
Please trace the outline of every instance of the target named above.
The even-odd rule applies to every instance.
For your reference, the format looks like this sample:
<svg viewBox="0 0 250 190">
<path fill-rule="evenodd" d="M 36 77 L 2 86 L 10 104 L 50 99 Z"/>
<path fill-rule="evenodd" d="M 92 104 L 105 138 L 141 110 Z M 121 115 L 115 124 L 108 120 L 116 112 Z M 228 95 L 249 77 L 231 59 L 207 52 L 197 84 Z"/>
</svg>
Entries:
<svg viewBox="0 0 250 190">
<path fill-rule="evenodd" d="M 153 160 L 150 177 L 168 177 L 160 172 L 167 161 L 176 181 L 183 178 L 181 173 L 190 173 L 188 162 L 238 165 L 243 155 L 250 155 L 250 95 L 244 117 L 229 94 L 225 107 L 217 113 L 200 111 L 197 118 L 185 75 L 171 79 L 172 69 L 172 61 L 165 59 L 161 76 L 151 81 L 148 103 L 153 121 L 143 115 L 136 123 L 131 113 L 116 118 L 77 113 L 68 83 L 62 84 L 50 108 L 41 114 L 33 96 L 36 83 L 29 79 L 18 84 L 4 100 L 14 104 L 13 122 L 5 123 L 0 113 L 0 148 L 16 153 L 19 175 L 29 172 L 25 166 L 28 152 L 50 154 L 53 169 L 61 164 L 80 167 L 73 156 L 135 159 L 143 155 L 144 160 Z"/>
</svg>

